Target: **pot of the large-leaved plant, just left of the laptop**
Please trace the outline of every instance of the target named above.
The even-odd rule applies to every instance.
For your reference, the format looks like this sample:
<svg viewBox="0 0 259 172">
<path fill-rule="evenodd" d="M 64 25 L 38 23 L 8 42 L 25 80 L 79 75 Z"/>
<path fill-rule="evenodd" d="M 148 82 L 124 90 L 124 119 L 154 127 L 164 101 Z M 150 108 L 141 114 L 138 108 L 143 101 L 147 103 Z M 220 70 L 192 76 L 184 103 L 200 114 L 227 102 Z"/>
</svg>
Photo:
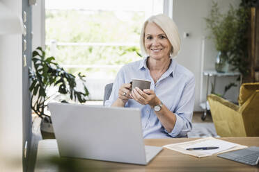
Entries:
<svg viewBox="0 0 259 172">
<path fill-rule="evenodd" d="M 52 123 L 45 117 L 40 122 L 42 139 L 55 139 Z"/>
</svg>

